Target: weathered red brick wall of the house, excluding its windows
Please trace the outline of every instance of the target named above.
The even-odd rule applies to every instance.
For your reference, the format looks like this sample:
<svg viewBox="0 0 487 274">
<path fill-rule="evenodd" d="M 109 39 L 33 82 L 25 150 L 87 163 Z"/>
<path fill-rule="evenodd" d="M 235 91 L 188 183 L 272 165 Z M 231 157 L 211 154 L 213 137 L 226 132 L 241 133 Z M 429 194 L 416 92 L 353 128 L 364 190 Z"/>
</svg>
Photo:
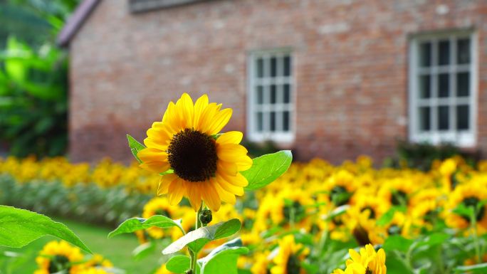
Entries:
<svg viewBox="0 0 487 274">
<path fill-rule="evenodd" d="M 414 33 L 473 28 L 477 146 L 487 152 L 487 1 L 215 0 L 132 14 L 102 0 L 70 41 L 70 158 L 130 159 L 169 100 L 208 93 L 246 131 L 247 56 L 290 48 L 298 159 L 378 161 L 408 137 Z"/>
</svg>

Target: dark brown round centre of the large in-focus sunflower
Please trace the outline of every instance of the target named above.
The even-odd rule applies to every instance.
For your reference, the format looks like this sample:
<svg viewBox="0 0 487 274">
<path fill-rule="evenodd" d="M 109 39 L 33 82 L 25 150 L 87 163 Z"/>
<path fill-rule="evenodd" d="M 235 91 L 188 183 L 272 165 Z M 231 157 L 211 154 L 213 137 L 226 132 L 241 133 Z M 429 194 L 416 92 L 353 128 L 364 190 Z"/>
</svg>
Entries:
<svg viewBox="0 0 487 274">
<path fill-rule="evenodd" d="M 179 178 L 205 181 L 215 175 L 218 160 L 215 141 L 197 130 L 186 129 L 174 135 L 167 154 Z"/>
</svg>

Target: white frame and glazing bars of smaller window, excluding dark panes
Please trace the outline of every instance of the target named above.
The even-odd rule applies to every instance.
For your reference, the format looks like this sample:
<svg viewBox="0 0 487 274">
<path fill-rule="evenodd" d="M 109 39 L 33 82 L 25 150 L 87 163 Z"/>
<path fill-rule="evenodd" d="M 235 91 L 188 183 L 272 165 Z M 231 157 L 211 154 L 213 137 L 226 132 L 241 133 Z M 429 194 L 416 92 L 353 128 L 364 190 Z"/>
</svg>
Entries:
<svg viewBox="0 0 487 274">
<path fill-rule="evenodd" d="M 256 60 L 258 58 L 271 58 L 273 56 L 289 56 L 290 57 L 290 76 L 277 76 L 277 77 L 267 77 L 267 78 L 256 78 Z M 269 64 L 269 62 L 266 62 Z M 263 51 L 252 51 L 248 54 L 247 60 L 247 78 L 248 78 L 248 85 L 247 85 L 247 133 L 248 139 L 252 142 L 263 142 L 266 140 L 271 140 L 273 142 L 278 143 L 290 143 L 293 142 L 295 139 L 295 58 L 293 56 L 292 51 L 290 48 L 277 48 L 271 50 L 263 50 Z M 271 70 L 271 65 L 265 65 L 264 70 Z M 282 58 L 278 58 L 278 63 L 276 65 L 277 70 L 280 71 L 283 68 Z M 270 72 L 267 72 L 270 75 Z M 280 75 L 278 73 L 278 75 Z M 282 75 L 282 74 L 281 74 Z M 268 104 L 263 103 L 260 106 L 256 105 L 256 92 L 255 88 L 258 84 L 261 85 L 270 85 L 272 83 L 276 84 L 289 84 L 289 103 L 274 103 L 271 104 L 270 102 L 270 91 L 267 93 L 268 98 L 264 99 L 264 102 L 268 100 Z M 265 93 L 264 93 L 265 94 Z M 276 92 L 277 102 L 283 102 L 283 91 Z M 279 125 L 282 125 L 281 115 L 276 115 L 276 131 L 270 131 L 270 125 L 267 120 L 263 119 L 263 132 L 258 132 L 256 130 L 256 118 L 255 113 L 258 110 L 263 110 L 269 112 L 271 110 L 276 111 L 289 111 L 289 131 L 284 132 L 281 130 Z M 281 117 L 281 118 L 280 118 Z"/>
</svg>

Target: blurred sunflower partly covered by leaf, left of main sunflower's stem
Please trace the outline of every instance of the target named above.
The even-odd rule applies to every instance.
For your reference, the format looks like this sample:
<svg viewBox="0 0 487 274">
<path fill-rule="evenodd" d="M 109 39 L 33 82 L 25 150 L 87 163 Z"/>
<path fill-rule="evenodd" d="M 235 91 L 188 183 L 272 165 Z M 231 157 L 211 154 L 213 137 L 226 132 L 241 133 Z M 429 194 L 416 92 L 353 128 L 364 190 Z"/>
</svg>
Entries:
<svg viewBox="0 0 487 274">
<path fill-rule="evenodd" d="M 174 218 L 175 212 L 176 209 L 169 204 L 166 197 L 157 197 L 145 204 L 142 218 L 150 218 L 155 215 L 164 215 L 169 218 Z M 147 233 L 149 236 L 156 239 L 164 237 L 164 230 L 155 226 L 147 228 Z"/>
</svg>

